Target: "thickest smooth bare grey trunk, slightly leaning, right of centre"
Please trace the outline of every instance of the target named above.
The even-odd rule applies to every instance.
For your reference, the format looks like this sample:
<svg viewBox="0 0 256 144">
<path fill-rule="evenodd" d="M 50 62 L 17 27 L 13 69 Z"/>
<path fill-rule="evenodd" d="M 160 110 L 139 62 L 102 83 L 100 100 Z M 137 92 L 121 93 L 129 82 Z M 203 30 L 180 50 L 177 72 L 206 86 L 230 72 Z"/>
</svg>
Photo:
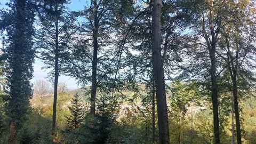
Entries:
<svg viewBox="0 0 256 144">
<path fill-rule="evenodd" d="M 152 18 L 152 56 L 156 85 L 159 143 L 169 143 L 169 125 L 165 95 L 163 60 L 161 54 L 161 0 L 154 0 Z"/>
</svg>

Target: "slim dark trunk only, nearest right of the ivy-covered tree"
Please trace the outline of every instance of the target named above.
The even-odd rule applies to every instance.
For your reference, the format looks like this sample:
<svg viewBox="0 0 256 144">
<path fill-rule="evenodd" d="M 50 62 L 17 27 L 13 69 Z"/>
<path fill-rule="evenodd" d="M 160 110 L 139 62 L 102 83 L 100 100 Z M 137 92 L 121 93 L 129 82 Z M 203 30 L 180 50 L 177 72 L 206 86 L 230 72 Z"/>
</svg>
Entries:
<svg viewBox="0 0 256 144">
<path fill-rule="evenodd" d="M 58 11 L 58 4 L 55 4 L 54 11 Z M 52 135 L 56 135 L 56 117 L 57 117 L 57 96 L 59 80 L 59 20 L 58 15 L 55 19 L 55 61 L 54 61 L 54 94 L 53 94 L 53 114 L 52 114 Z"/>
</svg>

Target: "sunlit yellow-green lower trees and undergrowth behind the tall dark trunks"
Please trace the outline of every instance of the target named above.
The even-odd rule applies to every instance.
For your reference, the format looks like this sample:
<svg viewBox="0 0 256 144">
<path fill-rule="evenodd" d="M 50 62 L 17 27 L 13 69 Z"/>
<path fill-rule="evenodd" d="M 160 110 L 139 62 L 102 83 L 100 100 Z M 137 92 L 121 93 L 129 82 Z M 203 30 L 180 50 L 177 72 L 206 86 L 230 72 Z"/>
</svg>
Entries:
<svg viewBox="0 0 256 144">
<path fill-rule="evenodd" d="M 170 109 L 170 143 L 213 143 L 213 118 L 210 103 L 199 98 L 198 91 L 195 88 L 190 89 L 190 87 L 193 87 L 191 84 L 175 82 L 171 85 L 173 94 L 167 94 L 167 103 L 169 103 Z M 41 87 L 41 89 L 36 87 Z M 18 138 L 20 143 L 52 143 L 53 93 L 52 91 L 47 92 L 49 89 L 51 89 L 49 83 L 41 80 L 36 82 L 36 91 L 33 99 L 30 100 L 32 109 L 24 126 L 19 130 Z M 140 90 L 145 90 L 145 86 L 141 85 Z M 84 91 L 86 90 L 68 91 L 65 84 L 59 84 L 57 103 L 58 136 L 54 138 L 55 143 L 75 143 L 78 141 L 79 143 L 151 143 L 152 113 L 151 103 L 145 102 L 147 99 L 146 93 L 143 94 L 145 98 L 133 98 L 134 92 L 123 92 L 131 100 L 124 102 L 116 111 L 111 110 L 110 103 L 107 102 L 105 110 L 103 110 L 103 102 L 99 100 L 101 104 L 96 109 L 97 117 L 99 116 L 97 128 L 93 133 L 87 134 L 89 131 L 88 123 L 91 121 L 90 117 L 88 117 L 90 94 L 84 95 Z M 78 96 L 76 93 L 79 93 Z M 78 98 L 76 99 L 76 97 Z M 244 143 L 253 143 L 255 138 L 255 101 L 256 99 L 252 97 L 241 102 Z M 69 110 L 70 108 L 73 110 Z M 76 108 L 79 110 L 74 113 Z M 221 139 L 223 143 L 230 143 L 232 140 L 231 108 L 226 110 L 226 113 L 221 115 L 223 126 Z M 75 118 L 76 115 L 81 118 Z M 101 115 L 107 116 L 105 117 L 107 119 L 115 117 L 115 121 L 108 121 L 102 118 Z M 73 119 L 73 121 L 70 121 L 70 119 Z M 4 140 L 8 139 L 6 135 L 8 131 L 5 129 L 7 127 L 6 121 L 4 121 L 2 127 L 3 137 L 1 141 L 4 143 Z M 100 127 L 102 128 L 100 129 Z M 103 129 L 103 127 L 106 129 Z M 99 142 L 102 140 L 99 137 L 106 138 L 106 141 Z M 157 137 L 158 135 L 156 135 Z"/>
</svg>

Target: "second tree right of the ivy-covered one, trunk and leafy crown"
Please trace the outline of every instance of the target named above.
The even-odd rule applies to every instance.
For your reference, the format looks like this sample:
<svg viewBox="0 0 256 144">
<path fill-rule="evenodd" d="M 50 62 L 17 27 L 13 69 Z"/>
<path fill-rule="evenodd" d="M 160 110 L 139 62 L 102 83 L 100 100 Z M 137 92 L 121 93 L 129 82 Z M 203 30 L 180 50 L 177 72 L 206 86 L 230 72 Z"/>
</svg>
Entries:
<svg viewBox="0 0 256 144">
<path fill-rule="evenodd" d="M 124 83 L 117 78 L 118 70 L 121 69 L 119 55 L 122 55 L 122 48 L 119 48 L 122 46 L 118 45 L 117 39 L 123 36 L 119 34 L 118 26 L 124 22 L 122 20 L 126 9 L 121 7 L 130 5 L 131 1 L 95 0 L 81 12 L 86 21 L 79 33 L 82 38 L 73 52 L 75 59 L 70 63 L 70 75 L 77 78 L 82 85 L 91 83 L 92 116 L 95 115 L 97 107 L 98 90 L 110 94 L 109 91 L 114 91 L 116 87 L 119 89 L 122 87 L 121 83 Z"/>
</svg>

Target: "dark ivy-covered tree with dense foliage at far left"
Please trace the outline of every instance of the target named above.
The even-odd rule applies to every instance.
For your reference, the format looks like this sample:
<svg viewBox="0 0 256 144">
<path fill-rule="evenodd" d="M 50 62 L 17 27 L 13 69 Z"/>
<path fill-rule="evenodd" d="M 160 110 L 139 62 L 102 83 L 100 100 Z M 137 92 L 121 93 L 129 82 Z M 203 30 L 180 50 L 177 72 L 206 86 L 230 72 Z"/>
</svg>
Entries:
<svg viewBox="0 0 256 144">
<path fill-rule="evenodd" d="M 1 60 L 6 61 L 5 74 L 9 89 L 6 90 L 6 114 L 10 117 L 9 143 L 17 143 L 17 130 L 29 108 L 32 97 L 30 79 L 33 77 L 34 5 L 33 1 L 17 0 L 9 3 L 11 8 L 1 20 L 7 32 L 6 47 Z"/>
</svg>

